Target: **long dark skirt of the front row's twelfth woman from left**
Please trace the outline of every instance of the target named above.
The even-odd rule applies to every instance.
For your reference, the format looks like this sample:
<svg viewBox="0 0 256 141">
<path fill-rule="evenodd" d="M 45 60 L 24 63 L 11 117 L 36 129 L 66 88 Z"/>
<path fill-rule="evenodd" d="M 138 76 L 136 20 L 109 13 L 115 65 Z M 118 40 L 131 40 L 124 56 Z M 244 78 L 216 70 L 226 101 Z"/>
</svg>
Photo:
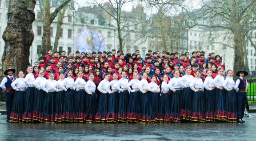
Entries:
<svg viewBox="0 0 256 141">
<path fill-rule="evenodd" d="M 141 119 L 140 108 L 140 92 L 131 93 L 127 109 L 127 121 L 140 122 Z"/>
</svg>

